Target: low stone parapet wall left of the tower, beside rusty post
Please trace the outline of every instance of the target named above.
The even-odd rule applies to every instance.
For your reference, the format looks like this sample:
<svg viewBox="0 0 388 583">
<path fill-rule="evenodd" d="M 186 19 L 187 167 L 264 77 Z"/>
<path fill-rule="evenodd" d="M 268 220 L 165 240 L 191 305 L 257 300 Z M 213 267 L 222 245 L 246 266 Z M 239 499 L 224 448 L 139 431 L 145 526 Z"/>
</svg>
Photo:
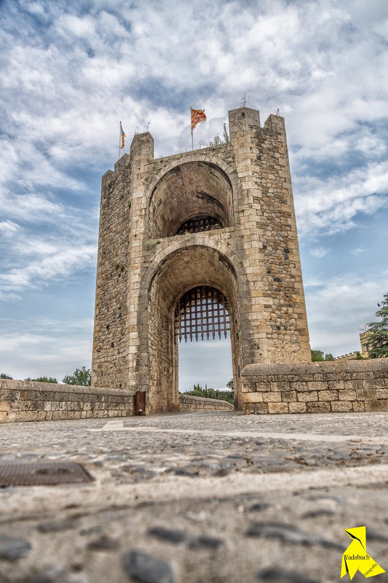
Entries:
<svg viewBox="0 0 388 583">
<path fill-rule="evenodd" d="M 134 415 L 134 391 L 0 380 L 0 423 Z"/>
</svg>

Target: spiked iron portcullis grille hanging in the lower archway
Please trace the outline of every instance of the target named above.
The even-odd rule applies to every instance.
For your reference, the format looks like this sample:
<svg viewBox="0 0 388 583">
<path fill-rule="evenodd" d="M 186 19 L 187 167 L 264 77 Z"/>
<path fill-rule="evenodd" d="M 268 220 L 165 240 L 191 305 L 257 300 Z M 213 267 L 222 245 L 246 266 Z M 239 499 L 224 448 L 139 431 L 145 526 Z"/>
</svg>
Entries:
<svg viewBox="0 0 388 583">
<path fill-rule="evenodd" d="M 198 340 L 204 335 L 221 334 L 227 337 L 230 330 L 230 319 L 227 298 L 222 292 L 210 286 L 198 286 L 187 291 L 179 300 L 175 309 L 175 334 L 181 341 L 182 336 Z"/>
</svg>

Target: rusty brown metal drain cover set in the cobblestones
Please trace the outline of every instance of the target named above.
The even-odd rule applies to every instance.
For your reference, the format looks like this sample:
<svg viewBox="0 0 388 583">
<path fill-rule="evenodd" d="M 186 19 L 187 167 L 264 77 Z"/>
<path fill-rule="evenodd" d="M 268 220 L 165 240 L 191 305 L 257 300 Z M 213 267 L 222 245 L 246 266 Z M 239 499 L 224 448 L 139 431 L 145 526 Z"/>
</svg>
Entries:
<svg viewBox="0 0 388 583">
<path fill-rule="evenodd" d="M 93 479 L 80 463 L 0 463 L 0 487 L 54 486 Z"/>
</svg>

